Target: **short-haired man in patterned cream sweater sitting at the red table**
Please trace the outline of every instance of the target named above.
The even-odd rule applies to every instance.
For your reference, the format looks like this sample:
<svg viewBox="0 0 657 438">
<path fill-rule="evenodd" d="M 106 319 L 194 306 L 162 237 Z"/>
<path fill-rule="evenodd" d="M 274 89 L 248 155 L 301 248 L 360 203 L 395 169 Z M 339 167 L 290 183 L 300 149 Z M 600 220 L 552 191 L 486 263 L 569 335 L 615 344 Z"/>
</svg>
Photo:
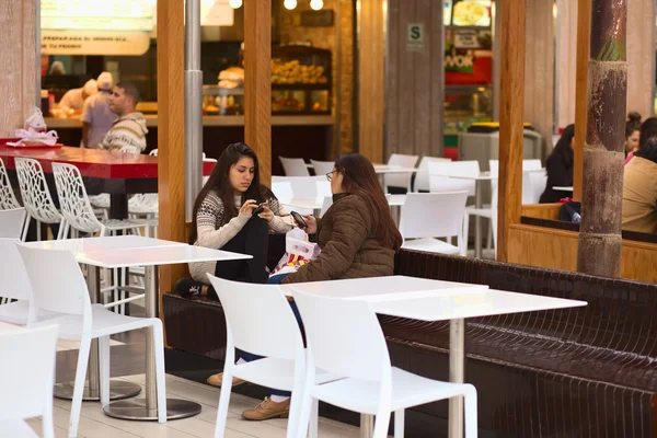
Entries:
<svg viewBox="0 0 657 438">
<path fill-rule="evenodd" d="M 110 95 L 110 110 L 118 116 L 100 145 L 101 149 L 141 153 L 146 149 L 146 119 L 135 108 L 140 94 L 130 82 L 119 82 Z"/>
</svg>

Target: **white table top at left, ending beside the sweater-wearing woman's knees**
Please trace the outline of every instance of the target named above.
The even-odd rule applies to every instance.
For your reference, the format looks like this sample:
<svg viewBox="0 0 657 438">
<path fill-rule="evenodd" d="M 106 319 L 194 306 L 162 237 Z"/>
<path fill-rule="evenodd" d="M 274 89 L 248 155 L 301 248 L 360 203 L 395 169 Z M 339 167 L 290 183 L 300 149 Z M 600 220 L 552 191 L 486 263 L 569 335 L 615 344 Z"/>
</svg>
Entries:
<svg viewBox="0 0 657 438">
<path fill-rule="evenodd" d="M 178 245 L 138 247 L 129 250 L 93 251 L 78 254 L 78 263 L 115 268 L 132 266 L 175 265 L 192 262 L 226 262 L 253 258 L 251 255 L 210 250 L 201 246 Z"/>
</svg>

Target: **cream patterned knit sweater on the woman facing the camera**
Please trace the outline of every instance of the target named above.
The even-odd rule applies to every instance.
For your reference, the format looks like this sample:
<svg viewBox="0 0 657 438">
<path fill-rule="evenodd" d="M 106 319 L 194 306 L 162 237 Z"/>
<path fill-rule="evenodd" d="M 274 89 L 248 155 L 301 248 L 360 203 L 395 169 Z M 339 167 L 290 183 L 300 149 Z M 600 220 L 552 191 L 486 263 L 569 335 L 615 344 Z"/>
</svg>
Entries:
<svg viewBox="0 0 657 438">
<path fill-rule="evenodd" d="M 241 196 L 235 196 L 235 207 L 242 207 Z M 283 234 L 292 229 L 293 220 L 274 195 L 267 199 L 274 219 L 269 222 L 269 233 Z M 220 250 L 249 222 L 251 216 L 238 215 L 224 223 L 223 201 L 216 192 L 210 192 L 198 207 L 196 212 L 196 242 L 197 246 Z M 224 224 L 222 224 L 224 223 Z M 209 284 L 206 273 L 215 274 L 217 262 L 189 263 L 189 274 L 196 281 Z"/>
</svg>

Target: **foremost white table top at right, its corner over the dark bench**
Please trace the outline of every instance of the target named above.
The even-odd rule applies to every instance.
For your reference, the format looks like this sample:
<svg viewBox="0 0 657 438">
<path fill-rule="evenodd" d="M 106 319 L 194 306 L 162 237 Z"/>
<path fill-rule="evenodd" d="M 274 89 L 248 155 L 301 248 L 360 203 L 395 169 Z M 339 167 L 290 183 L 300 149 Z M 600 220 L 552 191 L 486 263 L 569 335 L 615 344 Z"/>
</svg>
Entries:
<svg viewBox="0 0 657 438">
<path fill-rule="evenodd" d="M 538 310 L 587 306 L 585 301 L 487 289 L 468 293 L 447 291 L 440 296 L 400 301 L 373 302 L 379 314 L 420 321 L 448 321 Z"/>
</svg>

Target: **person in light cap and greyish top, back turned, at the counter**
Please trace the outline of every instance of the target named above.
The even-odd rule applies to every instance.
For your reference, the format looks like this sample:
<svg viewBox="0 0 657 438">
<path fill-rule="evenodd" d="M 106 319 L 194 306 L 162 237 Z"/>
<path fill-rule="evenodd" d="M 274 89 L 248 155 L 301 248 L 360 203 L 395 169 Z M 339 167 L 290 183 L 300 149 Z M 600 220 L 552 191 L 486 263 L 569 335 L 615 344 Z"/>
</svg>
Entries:
<svg viewBox="0 0 657 438">
<path fill-rule="evenodd" d="M 114 78 L 103 71 L 96 81 L 99 93 L 84 101 L 82 108 L 82 147 L 97 149 L 117 116 L 110 110 Z"/>
</svg>

